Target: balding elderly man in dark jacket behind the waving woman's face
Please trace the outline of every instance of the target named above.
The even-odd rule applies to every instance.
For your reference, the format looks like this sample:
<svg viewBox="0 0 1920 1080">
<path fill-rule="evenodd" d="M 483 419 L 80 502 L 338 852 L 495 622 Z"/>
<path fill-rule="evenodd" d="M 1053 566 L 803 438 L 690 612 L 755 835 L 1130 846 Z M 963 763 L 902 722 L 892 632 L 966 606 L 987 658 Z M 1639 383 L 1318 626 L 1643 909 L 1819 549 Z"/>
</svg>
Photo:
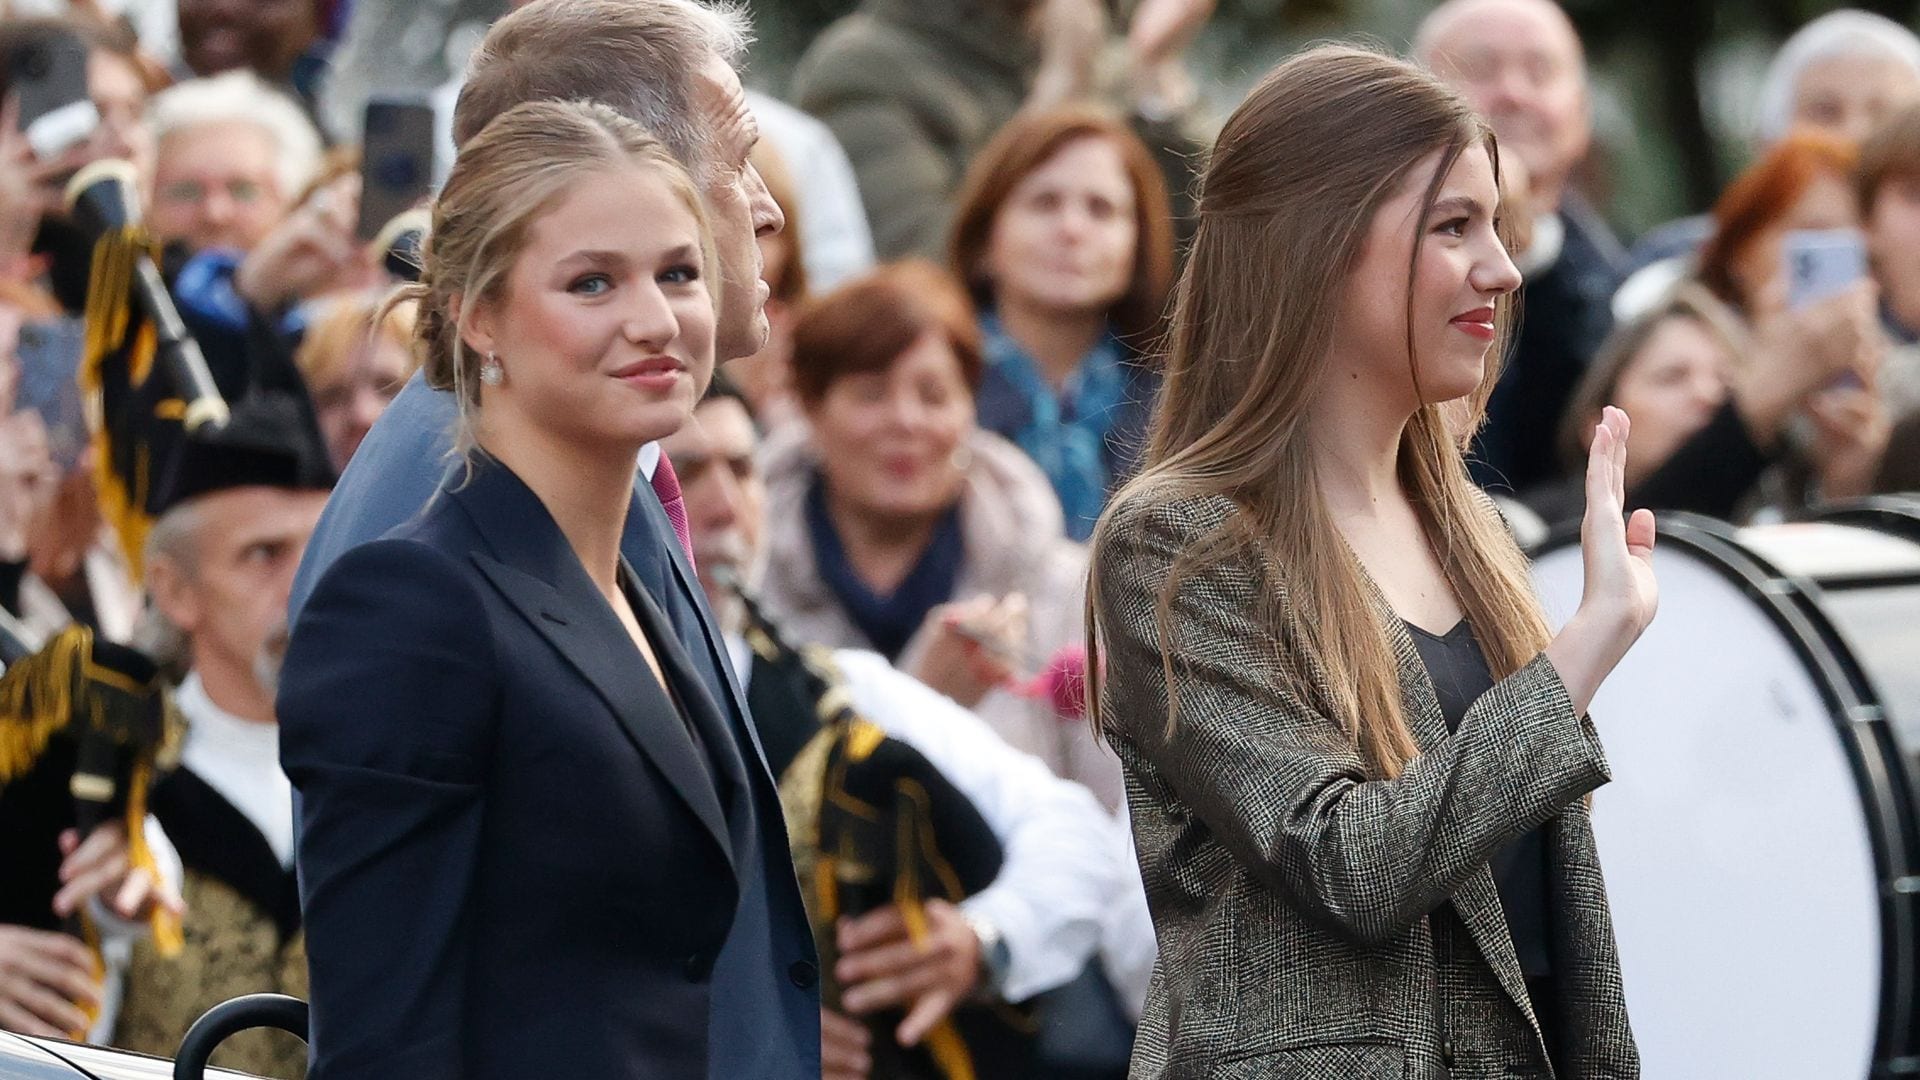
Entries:
<svg viewBox="0 0 1920 1080">
<path fill-rule="evenodd" d="M 1427 15 L 1413 50 L 1486 115 L 1503 158 L 1526 173 L 1534 236 L 1517 258 L 1521 332 L 1473 463 L 1482 484 L 1524 490 L 1559 473 L 1561 413 L 1611 329 L 1626 258 L 1571 183 L 1594 136 L 1586 56 L 1551 0 L 1452 0 Z"/>
</svg>

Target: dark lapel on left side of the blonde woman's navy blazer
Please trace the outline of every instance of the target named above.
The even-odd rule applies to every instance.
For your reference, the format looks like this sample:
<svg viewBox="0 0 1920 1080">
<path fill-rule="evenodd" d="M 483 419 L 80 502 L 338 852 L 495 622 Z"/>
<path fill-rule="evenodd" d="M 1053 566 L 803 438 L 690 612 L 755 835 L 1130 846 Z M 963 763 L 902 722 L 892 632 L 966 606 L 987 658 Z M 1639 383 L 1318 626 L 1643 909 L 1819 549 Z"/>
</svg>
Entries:
<svg viewBox="0 0 1920 1080">
<path fill-rule="evenodd" d="M 620 730 L 660 771 L 732 865 L 726 813 L 708 765 L 547 507 L 505 465 L 488 459 L 476 461 L 472 479 L 449 494 L 492 548 L 492 553 L 470 553 L 480 573 L 593 686 Z"/>
</svg>

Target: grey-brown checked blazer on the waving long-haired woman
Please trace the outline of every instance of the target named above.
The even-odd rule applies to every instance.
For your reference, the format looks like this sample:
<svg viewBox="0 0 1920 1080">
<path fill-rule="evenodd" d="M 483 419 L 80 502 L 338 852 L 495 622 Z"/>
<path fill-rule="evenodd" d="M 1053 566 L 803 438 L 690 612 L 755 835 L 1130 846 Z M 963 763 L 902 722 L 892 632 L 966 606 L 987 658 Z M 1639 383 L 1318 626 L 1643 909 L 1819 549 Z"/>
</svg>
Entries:
<svg viewBox="0 0 1920 1080">
<path fill-rule="evenodd" d="M 1133 1076 L 1553 1076 L 1488 871 L 1501 844 L 1542 824 L 1565 1013 L 1557 1076 L 1640 1076 L 1580 799 L 1607 761 L 1551 663 L 1503 678 L 1450 734 L 1413 638 L 1377 598 L 1421 755 L 1398 780 L 1367 780 L 1350 736 L 1286 690 L 1281 673 L 1300 659 L 1256 609 L 1281 588 L 1269 565 L 1183 578 L 1162 642 L 1154 605 L 1175 555 L 1235 513 L 1225 498 L 1123 505 L 1096 552 L 1102 719 L 1160 934 Z M 1181 705 L 1171 738 L 1165 648 Z M 1323 682 L 1315 667 L 1309 682 Z"/>
</svg>

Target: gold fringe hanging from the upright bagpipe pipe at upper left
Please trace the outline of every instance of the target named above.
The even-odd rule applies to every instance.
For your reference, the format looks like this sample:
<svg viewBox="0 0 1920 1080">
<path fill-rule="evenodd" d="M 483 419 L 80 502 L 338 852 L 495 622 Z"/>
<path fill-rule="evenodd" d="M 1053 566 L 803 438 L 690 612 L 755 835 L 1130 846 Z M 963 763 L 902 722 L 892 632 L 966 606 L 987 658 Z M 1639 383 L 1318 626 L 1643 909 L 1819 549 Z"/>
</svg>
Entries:
<svg viewBox="0 0 1920 1080">
<path fill-rule="evenodd" d="M 146 515 L 148 459 L 146 448 L 134 454 L 132 479 L 113 467 L 115 438 L 136 438 L 134 432 L 113 432 L 106 415 L 106 365 L 113 354 L 127 350 L 127 392 L 138 390 L 154 371 L 154 325 L 140 319 L 132 327 L 132 273 L 140 254 L 159 258 L 154 242 L 140 229 L 111 231 L 94 244 L 94 263 L 86 281 L 86 342 L 81 356 L 81 388 L 90 404 L 94 429 L 94 484 L 100 494 L 100 515 L 119 536 L 121 553 L 134 584 L 144 575 L 146 532 L 154 521 Z M 129 340 L 132 329 L 132 340 Z"/>
</svg>

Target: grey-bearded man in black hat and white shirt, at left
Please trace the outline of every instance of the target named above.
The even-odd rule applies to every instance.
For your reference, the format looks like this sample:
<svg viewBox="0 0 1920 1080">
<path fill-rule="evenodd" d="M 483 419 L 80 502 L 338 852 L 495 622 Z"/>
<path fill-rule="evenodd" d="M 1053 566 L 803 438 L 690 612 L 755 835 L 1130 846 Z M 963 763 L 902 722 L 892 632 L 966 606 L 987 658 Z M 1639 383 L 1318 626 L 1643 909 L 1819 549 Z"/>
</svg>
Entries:
<svg viewBox="0 0 1920 1080">
<path fill-rule="evenodd" d="M 148 534 L 148 594 L 184 644 L 175 694 L 186 723 L 180 767 L 152 809 L 186 869 L 184 951 L 134 945 L 115 1045 L 171 1055 L 202 1013 L 257 992 L 305 995 L 307 953 L 294 890 L 294 796 L 280 771 L 275 680 L 286 648 L 286 590 L 332 471 L 300 407 L 261 394 L 215 440 L 173 457 Z M 248 1032 L 228 1068 L 292 1076 L 305 1045 Z"/>
</svg>

